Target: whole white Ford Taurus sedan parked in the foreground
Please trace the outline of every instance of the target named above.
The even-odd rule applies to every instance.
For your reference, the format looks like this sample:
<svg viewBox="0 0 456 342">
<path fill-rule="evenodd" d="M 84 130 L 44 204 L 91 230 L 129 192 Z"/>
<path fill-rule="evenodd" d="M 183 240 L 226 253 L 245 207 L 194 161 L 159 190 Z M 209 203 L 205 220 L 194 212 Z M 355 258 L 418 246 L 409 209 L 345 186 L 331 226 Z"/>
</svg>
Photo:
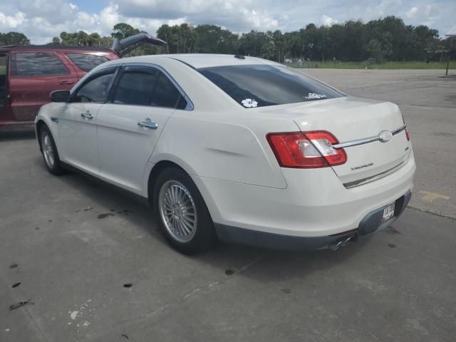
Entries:
<svg viewBox="0 0 456 342">
<path fill-rule="evenodd" d="M 49 172 L 70 166 L 144 197 L 180 252 L 217 238 L 337 249 L 410 200 L 397 105 L 261 58 L 123 58 L 51 100 L 36 118 Z"/>
</svg>

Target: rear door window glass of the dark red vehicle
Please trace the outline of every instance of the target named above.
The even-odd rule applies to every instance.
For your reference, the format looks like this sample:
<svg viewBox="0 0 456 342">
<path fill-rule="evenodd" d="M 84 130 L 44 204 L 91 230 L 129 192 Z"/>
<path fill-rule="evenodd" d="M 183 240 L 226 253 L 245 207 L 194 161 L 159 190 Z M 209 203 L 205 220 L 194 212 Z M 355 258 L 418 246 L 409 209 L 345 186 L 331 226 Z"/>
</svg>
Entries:
<svg viewBox="0 0 456 342">
<path fill-rule="evenodd" d="M 12 53 L 11 76 L 65 75 L 68 70 L 52 53 Z"/>
</svg>

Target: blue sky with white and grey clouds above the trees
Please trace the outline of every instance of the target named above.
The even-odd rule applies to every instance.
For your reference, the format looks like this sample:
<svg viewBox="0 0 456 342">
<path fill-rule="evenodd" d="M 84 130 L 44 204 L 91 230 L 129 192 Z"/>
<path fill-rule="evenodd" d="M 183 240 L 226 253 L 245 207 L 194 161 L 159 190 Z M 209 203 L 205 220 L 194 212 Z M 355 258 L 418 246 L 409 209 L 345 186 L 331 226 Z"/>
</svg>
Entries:
<svg viewBox="0 0 456 342">
<path fill-rule="evenodd" d="M 155 34 L 162 24 L 215 24 L 242 33 L 294 31 L 314 23 L 369 21 L 400 16 L 405 24 L 427 25 L 440 36 L 456 24 L 456 0 L 0 0 L 0 32 L 19 31 L 34 44 L 61 31 L 108 36 L 126 22 Z"/>
</svg>

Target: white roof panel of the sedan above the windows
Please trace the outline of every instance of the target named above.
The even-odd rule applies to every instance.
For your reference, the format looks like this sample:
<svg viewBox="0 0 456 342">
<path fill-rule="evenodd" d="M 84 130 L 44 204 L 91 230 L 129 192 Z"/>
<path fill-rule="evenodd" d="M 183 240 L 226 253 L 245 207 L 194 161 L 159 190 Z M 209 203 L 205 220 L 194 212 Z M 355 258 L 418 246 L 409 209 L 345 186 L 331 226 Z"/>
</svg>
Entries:
<svg viewBox="0 0 456 342">
<path fill-rule="evenodd" d="M 276 64 L 272 61 L 266 61 L 262 58 L 238 56 L 238 55 L 219 55 L 209 53 L 185 53 L 185 54 L 168 54 L 168 55 L 151 55 L 121 58 L 115 60 L 118 63 L 156 63 L 161 58 L 173 58 L 182 61 L 192 68 L 209 68 L 212 66 L 243 66 L 252 64 Z"/>
</svg>

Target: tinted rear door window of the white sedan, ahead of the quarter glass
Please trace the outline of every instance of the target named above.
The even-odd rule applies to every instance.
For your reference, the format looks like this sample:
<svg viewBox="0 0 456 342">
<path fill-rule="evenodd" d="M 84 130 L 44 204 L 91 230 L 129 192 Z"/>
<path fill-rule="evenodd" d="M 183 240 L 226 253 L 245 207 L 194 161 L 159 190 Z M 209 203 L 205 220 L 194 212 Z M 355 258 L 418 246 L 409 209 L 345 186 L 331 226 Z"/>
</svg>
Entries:
<svg viewBox="0 0 456 342">
<path fill-rule="evenodd" d="M 150 105 L 157 73 L 155 68 L 126 67 L 113 95 L 113 103 Z"/>
</svg>

